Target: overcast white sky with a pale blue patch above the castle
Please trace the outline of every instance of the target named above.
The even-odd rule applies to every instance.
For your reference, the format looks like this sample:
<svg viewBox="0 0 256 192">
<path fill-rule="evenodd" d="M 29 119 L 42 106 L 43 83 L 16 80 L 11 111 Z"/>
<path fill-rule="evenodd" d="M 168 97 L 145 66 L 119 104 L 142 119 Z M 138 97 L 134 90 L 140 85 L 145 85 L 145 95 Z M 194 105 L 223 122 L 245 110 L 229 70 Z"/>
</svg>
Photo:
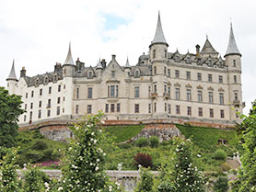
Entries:
<svg viewBox="0 0 256 192">
<path fill-rule="evenodd" d="M 256 99 L 255 0 L 0 0 L 0 86 L 15 60 L 17 78 L 52 72 L 64 63 L 71 42 L 74 61 L 95 66 L 100 59 L 124 65 L 149 51 L 160 11 L 169 52 L 195 53 L 206 35 L 221 56 L 227 51 L 230 22 L 242 54 L 244 112 Z"/>
</svg>

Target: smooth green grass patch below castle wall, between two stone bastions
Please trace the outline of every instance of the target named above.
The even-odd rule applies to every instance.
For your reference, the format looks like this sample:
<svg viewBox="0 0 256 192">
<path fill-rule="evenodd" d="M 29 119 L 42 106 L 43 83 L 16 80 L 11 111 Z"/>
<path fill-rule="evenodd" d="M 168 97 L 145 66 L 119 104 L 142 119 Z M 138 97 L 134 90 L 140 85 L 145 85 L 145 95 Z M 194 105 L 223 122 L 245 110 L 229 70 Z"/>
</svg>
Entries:
<svg viewBox="0 0 256 192">
<path fill-rule="evenodd" d="M 113 141 L 119 143 L 123 141 L 129 141 L 136 136 L 145 125 L 132 125 L 132 126 L 108 126 L 103 128 L 106 132 L 109 132 L 114 137 Z"/>
</svg>

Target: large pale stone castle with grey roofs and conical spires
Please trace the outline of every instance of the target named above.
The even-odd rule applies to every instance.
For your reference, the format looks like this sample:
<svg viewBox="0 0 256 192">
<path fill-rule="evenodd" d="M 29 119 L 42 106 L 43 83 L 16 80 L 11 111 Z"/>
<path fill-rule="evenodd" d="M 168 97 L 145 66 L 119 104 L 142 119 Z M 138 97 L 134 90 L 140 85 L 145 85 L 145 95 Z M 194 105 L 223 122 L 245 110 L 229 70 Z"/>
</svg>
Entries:
<svg viewBox="0 0 256 192">
<path fill-rule="evenodd" d="M 232 25 L 224 59 L 208 39 L 203 49 L 169 52 L 158 15 L 148 54 L 135 66 L 99 61 L 95 67 L 73 61 L 71 47 L 64 64 L 52 73 L 29 77 L 23 67 L 17 80 L 14 63 L 6 79 L 10 94 L 22 96 L 26 110 L 19 125 L 45 120 L 77 119 L 104 112 L 104 119 L 184 119 L 234 125 L 242 112 L 241 54 Z"/>
</svg>

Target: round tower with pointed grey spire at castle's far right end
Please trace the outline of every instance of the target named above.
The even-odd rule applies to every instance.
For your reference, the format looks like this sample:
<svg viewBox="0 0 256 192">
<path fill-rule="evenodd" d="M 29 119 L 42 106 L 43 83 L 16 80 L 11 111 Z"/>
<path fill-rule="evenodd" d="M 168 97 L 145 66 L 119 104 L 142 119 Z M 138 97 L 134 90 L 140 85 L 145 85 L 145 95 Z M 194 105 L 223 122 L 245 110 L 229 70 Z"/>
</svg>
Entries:
<svg viewBox="0 0 256 192">
<path fill-rule="evenodd" d="M 241 56 L 231 23 L 227 51 L 224 56 L 228 67 L 229 103 L 234 107 L 230 107 L 230 120 L 238 119 L 236 111 L 242 112 L 243 108 L 241 94 Z"/>
</svg>

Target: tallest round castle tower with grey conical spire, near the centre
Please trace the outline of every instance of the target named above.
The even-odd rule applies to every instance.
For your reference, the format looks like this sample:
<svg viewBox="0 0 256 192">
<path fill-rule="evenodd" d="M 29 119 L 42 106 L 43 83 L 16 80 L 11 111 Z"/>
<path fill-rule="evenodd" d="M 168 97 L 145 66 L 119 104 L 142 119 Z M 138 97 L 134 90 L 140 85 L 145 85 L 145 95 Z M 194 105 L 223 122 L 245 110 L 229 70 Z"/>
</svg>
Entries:
<svg viewBox="0 0 256 192">
<path fill-rule="evenodd" d="M 160 14 L 158 13 L 157 19 L 157 30 L 155 33 L 154 40 L 149 46 L 149 58 L 152 64 L 153 84 L 152 92 L 152 109 L 153 117 L 164 118 L 166 111 L 165 105 L 165 93 L 164 90 L 167 85 L 167 66 L 168 66 L 168 43 L 165 39 Z"/>
</svg>

